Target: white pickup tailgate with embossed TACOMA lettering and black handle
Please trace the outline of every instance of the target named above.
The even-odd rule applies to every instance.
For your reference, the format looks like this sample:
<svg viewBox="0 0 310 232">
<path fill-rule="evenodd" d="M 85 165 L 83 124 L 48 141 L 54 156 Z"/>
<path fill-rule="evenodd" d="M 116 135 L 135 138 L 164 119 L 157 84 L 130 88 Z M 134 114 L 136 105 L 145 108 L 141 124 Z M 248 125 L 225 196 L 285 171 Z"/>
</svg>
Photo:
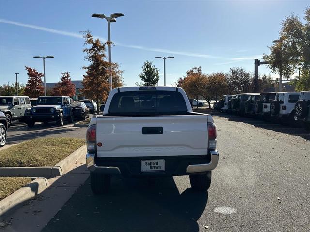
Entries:
<svg viewBox="0 0 310 232">
<path fill-rule="evenodd" d="M 101 116 L 97 157 L 206 155 L 207 115 Z"/>
</svg>

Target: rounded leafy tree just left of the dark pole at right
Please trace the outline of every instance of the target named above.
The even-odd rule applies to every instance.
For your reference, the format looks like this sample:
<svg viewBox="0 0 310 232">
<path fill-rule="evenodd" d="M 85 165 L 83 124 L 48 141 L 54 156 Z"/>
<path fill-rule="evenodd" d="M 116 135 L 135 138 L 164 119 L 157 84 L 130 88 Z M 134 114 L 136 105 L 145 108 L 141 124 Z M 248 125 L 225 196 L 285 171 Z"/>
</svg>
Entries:
<svg viewBox="0 0 310 232">
<path fill-rule="evenodd" d="M 252 73 L 247 72 L 243 68 L 230 68 L 229 72 L 226 74 L 226 81 L 229 94 L 247 93 L 252 91 Z"/>
</svg>

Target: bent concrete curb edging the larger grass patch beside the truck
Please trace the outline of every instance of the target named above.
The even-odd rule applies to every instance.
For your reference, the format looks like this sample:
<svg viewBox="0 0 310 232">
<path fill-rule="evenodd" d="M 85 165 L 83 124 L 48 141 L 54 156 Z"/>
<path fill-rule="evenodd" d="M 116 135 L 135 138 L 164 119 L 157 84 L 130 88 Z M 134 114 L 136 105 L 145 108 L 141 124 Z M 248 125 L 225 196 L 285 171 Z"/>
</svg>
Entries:
<svg viewBox="0 0 310 232">
<path fill-rule="evenodd" d="M 81 146 L 53 167 L 8 167 L 0 168 L 0 176 L 25 176 L 53 178 L 65 174 L 77 159 L 85 156 L 86 145 Z"/>
</svg>

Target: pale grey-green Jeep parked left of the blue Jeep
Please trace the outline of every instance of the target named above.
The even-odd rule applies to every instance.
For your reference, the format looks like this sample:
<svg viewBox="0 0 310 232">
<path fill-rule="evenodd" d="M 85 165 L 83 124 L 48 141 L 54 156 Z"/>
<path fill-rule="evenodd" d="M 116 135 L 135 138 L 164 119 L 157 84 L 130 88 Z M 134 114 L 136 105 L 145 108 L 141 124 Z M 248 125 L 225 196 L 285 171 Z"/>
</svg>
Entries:
<svg viewBox="0 0 310 232">
<path fill-rule="evenodd" d="M 0 110 L 6 116 L 8 127 L 14 120 L 24 121 L 26 109 L 30 107 L 30 99 L 27 96 L 0 96 Z"/>
</svg>

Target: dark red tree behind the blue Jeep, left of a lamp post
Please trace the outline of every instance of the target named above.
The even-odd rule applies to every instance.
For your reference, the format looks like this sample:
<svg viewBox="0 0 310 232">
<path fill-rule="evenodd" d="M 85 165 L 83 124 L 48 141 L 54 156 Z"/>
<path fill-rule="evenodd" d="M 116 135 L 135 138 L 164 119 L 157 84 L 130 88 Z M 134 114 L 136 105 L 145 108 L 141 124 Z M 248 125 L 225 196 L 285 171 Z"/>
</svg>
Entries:
<svg viewBox="0 0 310 232">
<path fill-rule="evenodd" d="M 44 87 L 42 82 L 43 73 L 39 73 L 35 68 L 25 66 L 28 75 L 28 81 L 24 94 L 30 98 L 37 98 L 44 95 Z"/>
</svg>

